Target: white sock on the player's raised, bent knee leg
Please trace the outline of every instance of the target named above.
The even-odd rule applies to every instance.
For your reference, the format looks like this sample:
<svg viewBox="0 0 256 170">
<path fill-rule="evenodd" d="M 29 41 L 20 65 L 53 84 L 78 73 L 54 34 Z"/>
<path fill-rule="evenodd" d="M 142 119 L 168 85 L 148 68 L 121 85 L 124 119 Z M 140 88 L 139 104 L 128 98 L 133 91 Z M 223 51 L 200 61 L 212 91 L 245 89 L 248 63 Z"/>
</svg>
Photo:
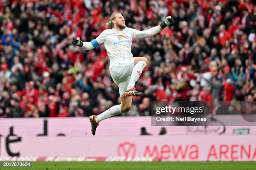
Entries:
<svg viewBox="0 0 256 170">
<path fill-rule="evenodd" d="M 127 89 L 130 89 L 131 87 L 134 87 L 135 82 L 138 80 L 140 77 L 142 70 L 146 67 L 147 63 L 145 61 L 139 61 L 133 68 L 133 72 L 131 74 L 131 79 L 128 84 Z"/>
</svg>

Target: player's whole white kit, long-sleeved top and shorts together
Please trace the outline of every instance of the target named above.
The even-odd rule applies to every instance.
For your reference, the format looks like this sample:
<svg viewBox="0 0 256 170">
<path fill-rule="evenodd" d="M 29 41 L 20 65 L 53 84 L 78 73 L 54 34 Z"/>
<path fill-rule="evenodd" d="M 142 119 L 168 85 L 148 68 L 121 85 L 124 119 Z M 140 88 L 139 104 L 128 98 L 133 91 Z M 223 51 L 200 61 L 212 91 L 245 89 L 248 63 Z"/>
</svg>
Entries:
<svg viewBox="0 0 256 170">
<path fill-rule="evenodd" d="M 104 43 L 110 58 L 109 70 L 111 77 L 115 84 L 118 85 L 120 96 L 123 96 L 134 68 L 135 58 L 131 53 L 133 38 L 153 36 L 159 31 L 159 26 L 143 31 L 127 27 L 121 31 L 112 28 L 101 32 L 95 40 L 84 42 L 82 47 L 85 50 L 91 50 Z"/>
</svg>

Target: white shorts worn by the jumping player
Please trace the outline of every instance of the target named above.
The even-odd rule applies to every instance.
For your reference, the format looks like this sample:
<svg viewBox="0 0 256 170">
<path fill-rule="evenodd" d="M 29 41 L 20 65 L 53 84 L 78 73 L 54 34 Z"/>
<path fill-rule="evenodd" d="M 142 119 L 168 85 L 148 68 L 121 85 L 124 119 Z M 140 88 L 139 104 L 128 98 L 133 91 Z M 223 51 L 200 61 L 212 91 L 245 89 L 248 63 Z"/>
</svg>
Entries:
<svg viewBox="0 0 256 170">
<path fill-rule="evenodd" d="M 110 75 L 119 88 L 119 95 L 124 96 L 131 79 L 135 57 L 127 60 L 115 60 L 110 63 Z"/>
</svg>

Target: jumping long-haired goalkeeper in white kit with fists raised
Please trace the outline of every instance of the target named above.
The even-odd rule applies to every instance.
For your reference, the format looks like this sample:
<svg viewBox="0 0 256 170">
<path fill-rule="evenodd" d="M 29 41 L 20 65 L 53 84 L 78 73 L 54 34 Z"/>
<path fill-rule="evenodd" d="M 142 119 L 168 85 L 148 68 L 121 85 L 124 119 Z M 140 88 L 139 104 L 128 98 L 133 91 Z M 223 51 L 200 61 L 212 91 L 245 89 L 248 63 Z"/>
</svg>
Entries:
<svg viewBox="0 0 256 170">
<path fill-rule="evenodd" d="M 120 105 L 110 107 L 100 115 L 90 116 L 92 135 L 95 135 L 100 121 L 123 112 L 128 112 L 131 109 L 132 96 L 142 95 L 141 92 L 135 89 L 134 85 L 140 77 L 142 70 L 146 67 L 148 60 L 146 57 L 133 57 L 131 53 L 133 38 L 156 35 L 160 30 L 173 23 L 172 17 L 168 16 L 160 25 L 148 30 L 139 31 L 127 28 L 123 16 L 120 13 L 113 13 L 110 21 L 105 24 L 105 27 L 109 29 L 101 32 L 95 40 L 82 42 L 79 37 L 74 37 L 73 45 L 78 45 L 85 50 L 91 50 L 104 43 L 110 58 L 110 75 L 119 88 Z"/>
</svg>

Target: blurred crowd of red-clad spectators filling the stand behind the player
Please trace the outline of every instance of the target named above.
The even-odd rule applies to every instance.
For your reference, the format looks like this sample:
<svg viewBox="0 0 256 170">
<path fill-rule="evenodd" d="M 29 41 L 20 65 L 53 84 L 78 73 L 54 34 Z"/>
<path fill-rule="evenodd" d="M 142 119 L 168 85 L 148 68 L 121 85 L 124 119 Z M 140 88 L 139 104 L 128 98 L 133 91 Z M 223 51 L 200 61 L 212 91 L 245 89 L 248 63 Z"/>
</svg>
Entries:
<svg viewBox="0 0 256 170">
<path fill-rule="evenodd" d="M 256 100 L 256 6 L 251 0 L 1 0 L 0 117 L 97 115 L 119 104 L 104 45 L 86 51 L 119 11 L 145 30 L 171 15 L 174 25 L 135 39 L 148 65 L 122 115 L 150 115 L 150 102 Z"/>
</svg>

